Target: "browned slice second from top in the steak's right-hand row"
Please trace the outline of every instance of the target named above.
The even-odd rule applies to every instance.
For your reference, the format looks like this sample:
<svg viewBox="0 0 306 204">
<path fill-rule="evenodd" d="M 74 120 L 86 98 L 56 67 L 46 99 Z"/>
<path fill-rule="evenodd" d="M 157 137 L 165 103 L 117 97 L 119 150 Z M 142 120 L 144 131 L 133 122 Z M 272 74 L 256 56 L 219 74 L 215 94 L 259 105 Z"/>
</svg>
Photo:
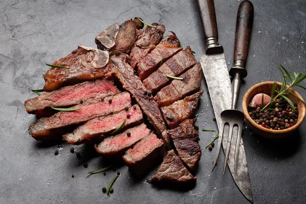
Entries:
<svg viewBox="0 0 306 204">
<path fill-rule="evenodd" d="M 177 40 L 174 33 L 166 36 L 152 52 L 147 54 L 137 65 L 137 74 L 141 80 L 147 78 L 154 72 L 163 62 L 180 52 L 180 41 Z"/>
</svg>

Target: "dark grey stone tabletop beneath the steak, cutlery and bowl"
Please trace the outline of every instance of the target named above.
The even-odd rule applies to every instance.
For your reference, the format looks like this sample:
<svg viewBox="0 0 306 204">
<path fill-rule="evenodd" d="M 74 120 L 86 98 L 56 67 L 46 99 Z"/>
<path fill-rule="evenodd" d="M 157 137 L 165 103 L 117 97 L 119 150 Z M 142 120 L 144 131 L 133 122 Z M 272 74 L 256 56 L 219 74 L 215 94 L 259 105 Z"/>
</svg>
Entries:
<svg viewBox="0 0 306 204">
<path fill-rule="evenodd" d="M 215 0 L 219 42 L 228 68 L 233 65 L 239 3 Z M 240 99 L 258 82 L 279 81 L 277 64 L 295 71 L 305 71 L 306 64 L 306 2 L 262 0 L 253 1 L 253 5 L 248 76 Z M 42 74 L 48 69 L 44 63 L 66 56 L 79 44 L 95 46 L 95 36 L 114 22 L 139 16 L 147 22 L 162 23 L 167 31 L 177 34 L 184 47 L 190 45 L 198 59 L 204 53 L 204 43 L 194 1 L 3 0 L 0 11 L 0 203 L 248 203 L 228 169 L 222 175 L 222 165 L 218 164 L 210 172 L 215 149 L 204 147 L 213 132 L 200 132 L 203 155 L 194 189 L 179 192 L 155 188 L 146 183 L 155 170 L 135 180 L 122 166 L 109 198 L 102 188 L 116 171 L 87 176 L 87 171 L 107 165 L 91 146 L 76 147 L 81 159 L 67 144 L 62 144 L 63 149 L 55 156 L 57 143 L 37 142 L 28 133 L 35 117 L 24 111 L 23 102 L 35 96 L 32 88 L 42 88 Z M 207 88 L 202 88 L 205 93 L 197 125 L 215 128 Z M 291 138 L 267 141 L 244 130 L 254 203 L 306 202 L 305 131 L 303 123 Z M 224 161 L 223 155 L 220 161 Z"/>
</svg>

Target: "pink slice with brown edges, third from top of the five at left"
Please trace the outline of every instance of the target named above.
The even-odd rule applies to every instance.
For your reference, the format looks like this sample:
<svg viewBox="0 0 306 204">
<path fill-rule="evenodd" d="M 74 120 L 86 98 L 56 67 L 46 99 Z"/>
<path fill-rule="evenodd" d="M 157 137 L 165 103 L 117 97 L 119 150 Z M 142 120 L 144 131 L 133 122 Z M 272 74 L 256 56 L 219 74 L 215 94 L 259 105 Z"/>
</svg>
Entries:
<svg viewBox="0 0 306 204">
<path fill-rule="evenodd" d="M 135 107 L 135 108 L 134 108 Z M 127 114 L 130 117 L 127 117 Z M 84 144 L 99 140 L 99 136 L 108 135 L 115 131 L 126 120 L 123 129 L 126 129 L 143 121 L 142 112 L 138 105 L 130 107 L 128 111 L 120 111 L 113 115 L 101 116 L 87 121 L 72 133 L 64 135 L 68 144 Z M 98 137 L 98 138 L 97 138 Z"/>
</svg>

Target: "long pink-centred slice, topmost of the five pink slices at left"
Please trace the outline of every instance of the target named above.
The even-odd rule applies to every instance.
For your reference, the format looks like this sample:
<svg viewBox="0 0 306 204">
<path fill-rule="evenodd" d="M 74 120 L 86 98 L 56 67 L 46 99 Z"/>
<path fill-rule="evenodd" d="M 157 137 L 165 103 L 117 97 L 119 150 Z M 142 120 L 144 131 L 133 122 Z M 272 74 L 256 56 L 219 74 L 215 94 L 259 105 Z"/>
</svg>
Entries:
<svg viewBox="0 0 306 204">
<path fill-rule="evenodd" d="M 114 83 L 109 80 L 96 80 L 83 82 L 72 86 L 63 87 L 59 90 L 43 93 L 35 98 L 24 102 L 25 110 L 30 114 L 36 114 L 38 117 L 53 115 L 57 111 L 51 107 L 71 107 L 88 100 L 120 93 Z"/>
</svg>

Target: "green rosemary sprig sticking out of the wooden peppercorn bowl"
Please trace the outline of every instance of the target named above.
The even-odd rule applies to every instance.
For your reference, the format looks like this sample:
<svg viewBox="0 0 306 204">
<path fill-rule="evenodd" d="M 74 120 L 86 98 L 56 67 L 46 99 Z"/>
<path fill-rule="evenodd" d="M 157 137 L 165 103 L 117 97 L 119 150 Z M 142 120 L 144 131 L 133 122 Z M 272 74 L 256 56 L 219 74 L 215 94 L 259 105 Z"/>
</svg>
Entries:
<svg viewBox="0 0 306 204">
<path fill-rule="evenodd" d="M 294 104 L 292 103 L 290 98 L 288 98 L 286 95 L 292 95 L 293 97 L 295 97 L 296 99 L 301 101 L 301 103 L 306 105 L 305 101 L 303 101 L 301 98 L 299 98 L 297 95 L 295 95 L 294 93 L 292 93 L 290 91 L 290 88 L 292 88 L 294 86 L 298 86 L 298 87 L 303 88 L 303 89 L 306 90 L 305 87 L 303 87 L 303 86 L 301 86 L 299 84 L 304 79 L 306 79 L 306 74 L 295 73 L 295 72 L 292 72 L 292 71 L 288 71 L 282 65 L 277 66 L 277 68 L 281 71 L 281 73 L 283 75 L 282 87 L 281 87 L 281 89 L 278 89 L 278 87 L 276 86 L 276 82 L 274 82 L 274 84 L 273 84 L 273 86 L 271 88 L 271 98 L 270 98 L 270 101 L 269 101 L 269 103 L 265 107 L 262 108 L 261 111 L 270 109 L 272 104 L 277 103 L 279 100 L 281 100 L 281 98 L 284 98 L 285 100 L 287 100 L 287 102 L 290 104 L 292 110 L 295 111 Z M 289 80 L 290 84 L 287 87 L 286 85 L 287 85 L 287 81 L 288 80 Z M 274 96 L 275 92 L 277 93 L 276 96 Z"/>
</svg>

